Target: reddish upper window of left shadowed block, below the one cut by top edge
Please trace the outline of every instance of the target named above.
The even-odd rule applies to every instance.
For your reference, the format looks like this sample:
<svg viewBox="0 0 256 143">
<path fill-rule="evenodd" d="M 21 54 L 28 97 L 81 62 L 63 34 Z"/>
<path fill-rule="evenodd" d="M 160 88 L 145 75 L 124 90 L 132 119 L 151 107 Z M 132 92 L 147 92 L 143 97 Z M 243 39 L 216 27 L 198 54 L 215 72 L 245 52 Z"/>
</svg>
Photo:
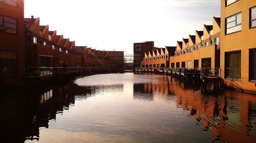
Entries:
<svg viewBox="0 0 256 143">
<path fill-rule="evenodd" d="M 0 15 L 0 32 L 17 34 L 17 19 Z"/>
</svg>

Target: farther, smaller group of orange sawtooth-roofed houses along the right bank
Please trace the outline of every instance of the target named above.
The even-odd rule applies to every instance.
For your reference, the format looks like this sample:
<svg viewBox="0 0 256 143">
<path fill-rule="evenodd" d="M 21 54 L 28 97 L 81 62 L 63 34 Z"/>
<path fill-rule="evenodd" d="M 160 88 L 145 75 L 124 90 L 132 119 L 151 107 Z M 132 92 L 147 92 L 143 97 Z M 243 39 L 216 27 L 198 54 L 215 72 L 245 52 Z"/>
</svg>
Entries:
<svg viewBox="0 0 256 143">
<path fill-rule="evenodd" d="M 173 56 L 176 47 L 165 46 L 165 48 L 155 48 L 144 53 L 144 59 L 141 62 L 142 68 L 166 68 L 169 67 L 169 57 Z"/>
</svg>

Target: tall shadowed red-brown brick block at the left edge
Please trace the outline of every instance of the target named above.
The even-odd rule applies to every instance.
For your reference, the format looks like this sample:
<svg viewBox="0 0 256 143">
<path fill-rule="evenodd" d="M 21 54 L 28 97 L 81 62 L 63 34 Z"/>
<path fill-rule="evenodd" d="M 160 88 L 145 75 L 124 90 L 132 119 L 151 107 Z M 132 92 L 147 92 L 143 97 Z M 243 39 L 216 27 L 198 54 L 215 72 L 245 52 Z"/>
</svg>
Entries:
<svg viewBox="0 0 256 143">
<path fill-rule="evenodd" d="M 21 82 L 24 75 L 24 0 L 0 0 L 0 84 Z"/>
</svg>

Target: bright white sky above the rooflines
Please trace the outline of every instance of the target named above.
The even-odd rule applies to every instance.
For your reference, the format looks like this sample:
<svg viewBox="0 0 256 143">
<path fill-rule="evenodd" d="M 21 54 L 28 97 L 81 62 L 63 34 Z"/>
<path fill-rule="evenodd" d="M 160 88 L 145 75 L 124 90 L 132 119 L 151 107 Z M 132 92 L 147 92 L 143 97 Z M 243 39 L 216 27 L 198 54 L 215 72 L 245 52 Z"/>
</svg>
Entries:
<svg viewBox="0 0 256 143">
<path fill-rule="evenodd" d="M 76 46 L 133 53 L 133 43 L 176 46 L 195 35 L 220 17 L 220 0 L 25 0 L 31 15 Z"/>
</svg>

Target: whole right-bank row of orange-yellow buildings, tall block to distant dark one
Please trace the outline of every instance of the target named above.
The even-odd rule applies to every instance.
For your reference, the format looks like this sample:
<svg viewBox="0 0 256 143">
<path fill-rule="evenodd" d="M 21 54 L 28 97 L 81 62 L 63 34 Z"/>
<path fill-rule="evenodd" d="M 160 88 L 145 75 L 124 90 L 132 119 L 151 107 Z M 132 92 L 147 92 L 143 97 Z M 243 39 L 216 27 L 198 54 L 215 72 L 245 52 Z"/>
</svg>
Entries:
<svg viewBox="0 0 256 143">
<path fill-rule="evenodd" d="M 134 53 L 144 55 L 141 68 L 220 68 L 224 85 L 256 92 L 256 1 L 221 0 L 221 17 L 174 48 L 134 43 Z"/>
</svg>

